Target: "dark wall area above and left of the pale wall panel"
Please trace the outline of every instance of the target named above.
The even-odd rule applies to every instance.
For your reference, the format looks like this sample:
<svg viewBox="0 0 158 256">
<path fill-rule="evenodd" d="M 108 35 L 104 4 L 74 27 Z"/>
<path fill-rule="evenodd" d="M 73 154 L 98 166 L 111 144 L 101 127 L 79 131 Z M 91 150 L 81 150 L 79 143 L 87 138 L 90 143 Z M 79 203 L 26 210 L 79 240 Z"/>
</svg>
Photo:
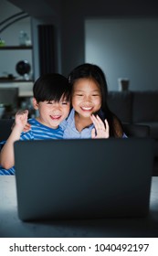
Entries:
<svg viewBox="0 0 158 256">
<path fill-rule="evenodd" d="M 157 2 L 125 0 L 62 1 L 62 70 L 69 70 L 86 59 L 85 23 L 90 19 L 158 17 Z M 103 30 L 100 29 L 100 31 Z M 101 43 L 101 42 L 100 42 Z M 125 66 L 126 67 L 126 64 Z M 131 69 L 131 67 L 129 67 Z M 143 75 L 143 74 L 142 74 Z"/>
</svg>

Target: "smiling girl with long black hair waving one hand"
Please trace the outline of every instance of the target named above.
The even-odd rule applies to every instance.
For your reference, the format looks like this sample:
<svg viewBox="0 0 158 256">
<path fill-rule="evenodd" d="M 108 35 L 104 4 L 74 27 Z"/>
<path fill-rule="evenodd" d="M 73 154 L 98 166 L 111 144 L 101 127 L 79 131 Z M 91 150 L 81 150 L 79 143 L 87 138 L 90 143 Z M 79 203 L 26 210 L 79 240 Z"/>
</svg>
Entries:
<svg viewBox="0 0 158 256">
<path fill-rule="evenodd" d="M 73 69 L 68 81 L 71 86 L 71 112 L 64 127 L 63 138 L 126 137 L 121 121 L 107 104 L 107 82 L 97 65 L 85 63 Z"/>
</svg>

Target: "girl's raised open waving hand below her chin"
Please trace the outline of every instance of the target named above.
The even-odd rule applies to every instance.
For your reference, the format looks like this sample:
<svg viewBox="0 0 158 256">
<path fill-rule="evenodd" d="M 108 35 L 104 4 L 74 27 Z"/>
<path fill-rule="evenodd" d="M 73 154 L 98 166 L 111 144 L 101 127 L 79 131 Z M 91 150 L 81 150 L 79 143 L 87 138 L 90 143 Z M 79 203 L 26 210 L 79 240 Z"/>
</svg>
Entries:
<svg viewBox="0 0 158 256">
<path fill-rule="evenodd" d="M 98 138 L 109 138 L 110 137 L 110 129 L 109 129 L 109 123 L 105 119 L 105 123 L 102 122 L 100 117 L 94 114 L 91 115 L 91 121 L 94 124 L 95 128 L 91 131 L 91 138 L 92 139 L 98 139 Z"/>
</svg>

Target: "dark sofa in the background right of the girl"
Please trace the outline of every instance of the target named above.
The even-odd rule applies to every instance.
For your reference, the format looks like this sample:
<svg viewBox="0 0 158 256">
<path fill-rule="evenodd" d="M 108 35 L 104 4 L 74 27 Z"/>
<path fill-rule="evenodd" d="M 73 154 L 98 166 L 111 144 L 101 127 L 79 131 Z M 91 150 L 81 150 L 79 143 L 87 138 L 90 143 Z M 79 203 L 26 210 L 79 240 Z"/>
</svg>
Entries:
<svg viewBox="0 0 158 256">
<path fill-rule="evenodd" d="M 122 123 L 147 125 L 155 141 L 154 171 L 158 173 L 158 91 L 109 91 L 108 105 Z"/>
</svg>

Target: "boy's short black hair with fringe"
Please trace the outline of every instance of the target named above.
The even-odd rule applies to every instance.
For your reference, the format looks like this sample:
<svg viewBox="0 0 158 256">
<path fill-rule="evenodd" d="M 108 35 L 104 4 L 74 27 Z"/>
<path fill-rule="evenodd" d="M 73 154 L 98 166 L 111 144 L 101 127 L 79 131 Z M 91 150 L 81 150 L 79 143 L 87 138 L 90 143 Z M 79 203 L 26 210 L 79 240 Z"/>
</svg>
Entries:
<svg viewBox="0 0 158 256">
<path fill-rule="evenodd" d="M 70 100 L 68 79 L 58 73 L 47 73 L 39 77 L 33 87 L 34 98 L 39 101 L 60 101 L 64 96 Z"/>
</svg>

